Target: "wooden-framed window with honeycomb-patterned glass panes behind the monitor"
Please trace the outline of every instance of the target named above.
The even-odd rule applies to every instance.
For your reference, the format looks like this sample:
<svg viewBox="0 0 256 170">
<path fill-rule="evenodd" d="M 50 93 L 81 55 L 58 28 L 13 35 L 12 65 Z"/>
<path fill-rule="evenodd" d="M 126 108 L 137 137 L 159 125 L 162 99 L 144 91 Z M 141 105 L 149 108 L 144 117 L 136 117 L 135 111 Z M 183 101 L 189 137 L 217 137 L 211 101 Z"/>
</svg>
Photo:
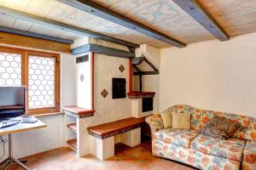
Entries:
<svg viewBox="0 0 256 170">
<path fill-rule="evenodd" d="M 0 86 L 26 86 L 28 115 L 60 111 L 59 54 L 0 47 Z"/>
</svg>

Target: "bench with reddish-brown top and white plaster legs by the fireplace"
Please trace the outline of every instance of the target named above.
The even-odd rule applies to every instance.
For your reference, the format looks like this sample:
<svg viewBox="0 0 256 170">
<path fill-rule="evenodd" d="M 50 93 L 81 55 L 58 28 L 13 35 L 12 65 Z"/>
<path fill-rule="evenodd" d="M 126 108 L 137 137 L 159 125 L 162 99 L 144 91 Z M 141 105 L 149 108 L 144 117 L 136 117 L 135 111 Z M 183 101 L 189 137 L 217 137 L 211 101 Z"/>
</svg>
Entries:
<svg viewBox="0 0 256 170">
<path fill-rule="evenodd" d="M 93 154 L 100 160 L 106 160 L 114 156 L 115 138 L 119 137 L 117 143 L 123 143 L 131 147 L 141 143 L 141 126 L 145 117 L 129 117 L 115 122 L 88 127 L 92 135 L 91 145 Z M 117 140 L 117 139 L 116 139 Z"/>
</svg>

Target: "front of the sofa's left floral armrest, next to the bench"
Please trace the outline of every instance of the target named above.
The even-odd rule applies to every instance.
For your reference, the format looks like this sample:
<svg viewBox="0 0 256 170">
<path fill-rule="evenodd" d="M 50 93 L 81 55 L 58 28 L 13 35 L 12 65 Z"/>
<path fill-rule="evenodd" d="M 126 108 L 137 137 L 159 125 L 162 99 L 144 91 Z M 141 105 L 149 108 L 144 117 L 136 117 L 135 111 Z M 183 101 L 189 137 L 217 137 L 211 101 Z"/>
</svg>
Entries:
<svg viewBox="0 0 256 170">
<path fill-rule="evenodd" d="M 151 129 L 151 137 L 155 139 L 155 133 L 160 129 L 164 128 L 164 122 L 160 115 L 152 115 L 146 117 L 145 121 L 148 123 Z"/>
</svg>

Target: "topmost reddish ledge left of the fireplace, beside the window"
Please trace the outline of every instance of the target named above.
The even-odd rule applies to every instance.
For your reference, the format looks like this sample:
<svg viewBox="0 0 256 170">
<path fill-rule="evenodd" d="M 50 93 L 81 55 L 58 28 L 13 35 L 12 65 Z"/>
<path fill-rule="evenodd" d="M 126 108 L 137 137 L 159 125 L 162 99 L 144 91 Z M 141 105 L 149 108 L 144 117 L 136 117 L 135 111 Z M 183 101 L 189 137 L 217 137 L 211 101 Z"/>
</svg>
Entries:
<svg viewBox="0 0 256 170">
<path fill-rule="evenodd" d="M 79 118 L 94 116 L 95 113 L 95 110 L 84 109 L 78 106 L 62 107 L 62 110 L 71 116 L 76 116 Z"/>
</svg>

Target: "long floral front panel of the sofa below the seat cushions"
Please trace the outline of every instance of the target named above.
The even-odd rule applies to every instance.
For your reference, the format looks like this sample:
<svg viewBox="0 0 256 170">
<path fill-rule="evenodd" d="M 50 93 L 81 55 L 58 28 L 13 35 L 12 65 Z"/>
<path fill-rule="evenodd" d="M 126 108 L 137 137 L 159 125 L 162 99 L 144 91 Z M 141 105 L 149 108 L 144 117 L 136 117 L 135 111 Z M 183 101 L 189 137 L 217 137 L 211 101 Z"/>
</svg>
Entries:
<svg viewBox="0 0 256 170">
<path fill-rule="evenodd" d="M 205 170 L 239 170 L 241 164 L 240 161 L 234 161 L 219 156 L 211 156 L 200 151 L 184 148 L 177 144 L 170 144 L 156 139 L 152 141 L 152 154 L 153 156 L 180 161 L 190 166 Z M 176 168 L 174 167 L 173 169 Z"/>
</svg>

